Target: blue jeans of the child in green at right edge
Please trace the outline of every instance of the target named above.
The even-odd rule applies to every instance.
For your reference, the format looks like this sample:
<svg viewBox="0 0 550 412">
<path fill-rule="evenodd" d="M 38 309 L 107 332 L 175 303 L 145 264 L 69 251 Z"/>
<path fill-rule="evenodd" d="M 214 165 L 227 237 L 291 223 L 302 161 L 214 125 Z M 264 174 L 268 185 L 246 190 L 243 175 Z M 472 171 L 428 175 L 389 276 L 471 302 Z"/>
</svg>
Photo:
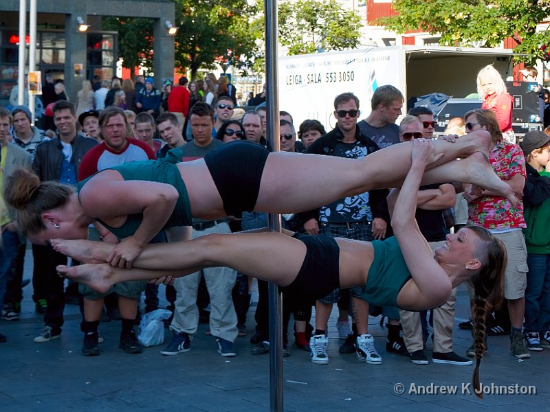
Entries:
<svg viewBox="0 0 550 412">
<path fill-rule="evenodd" d="M 525 332 L 550 330 L 550 255 L 527 254 Z"/>
</svg>

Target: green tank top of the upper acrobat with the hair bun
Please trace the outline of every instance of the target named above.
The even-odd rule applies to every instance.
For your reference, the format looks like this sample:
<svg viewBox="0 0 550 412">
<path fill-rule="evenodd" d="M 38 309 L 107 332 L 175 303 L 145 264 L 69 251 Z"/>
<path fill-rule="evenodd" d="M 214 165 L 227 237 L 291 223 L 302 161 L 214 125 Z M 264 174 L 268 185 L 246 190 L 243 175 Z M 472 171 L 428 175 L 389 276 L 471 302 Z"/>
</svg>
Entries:
<svg viewBox="0 0 550 412">
<path fill-rule="evenodd" d="M 192 224 L 191 205 L 189 203 L 187 188 L 183 179 L 181 179 L 181 174 L 179 173 L 175 163 L 170 163 L 170 161 L 166 160 L 131 161 L 109 169 L 119 172 L 122 175 L 122 179 L 125 181 L 154 181 L 173 185 L 179 193 L 179 197 L 177 198 L 174 210 L 163 229 L 176 226 L 189 226 Z M 80 190 L 82 190 L 83 186 L 93 176 L 95 176 L 95 174 L 81 182 L 78 182 L 77 192 L 79 200 Z M 96 220 L 104 225 L 104 227 L 107 227 L 107 229 L 118 236 L 118 238 L 127 238 L 128 236 L 132 236 L 137 228 L 140 227 L 143 220 L 143 215 L 128 215 L 126 222 L 124 222 L 124 225 L 121 227 L 111 227 L 98 218 L 96 218 Z"/>
</svg>

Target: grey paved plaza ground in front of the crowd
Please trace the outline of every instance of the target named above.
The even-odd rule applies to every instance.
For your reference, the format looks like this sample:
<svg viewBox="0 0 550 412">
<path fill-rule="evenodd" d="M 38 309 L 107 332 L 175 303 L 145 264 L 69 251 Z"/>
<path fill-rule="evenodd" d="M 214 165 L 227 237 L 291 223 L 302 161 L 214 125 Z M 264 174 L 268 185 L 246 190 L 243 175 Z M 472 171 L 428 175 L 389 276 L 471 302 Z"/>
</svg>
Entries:
<svg viewBox="0 0 550 412">
<path fill-rule="evenodd" d="M 25 277 L 30 277 L 32 261 L 27 263 Z M 118 349 L 120 322 L 115 321 L 100 323 L 105 340 L 100 356 L 85 357 L 80 352 L 83 334 L 78 306 L 65 308 L 61 339 L 33 343 L 43 321 L 34 313 L 31 288 L 24 289 L 21 320 L 0 321 L 0 332 L 8 336 L 8 342 L 0 344 L 0 411 L 270 410 L 269 355 L 252 356 L 248 342 L 255 307 L 249 312 L 248 336 L 235 342 L 235 358 L 217 353 L 214 338 L 205 334 L 206 324 L 199 325 L 190 352 L 162 356 L 163 346 L 157 346 L 145 348 L 142 354 L 125 354 Z M 466 317 L 467 295 L 460 288 L 455 325 Z M 165 332 L 167 343 L 171 332 L 167 328 Z M 367 365 L 355 354 L 338 353 L 336 317 L 329 321 L 328 365 L 314 365 L 309 353 L 290 346 L 292 356 L 283 361 L 284 410 L 550 411 L 548 350 L 531 352 L 531 359 L 518 361 L 509 354 L 507 336 L 489 337 L 489 352 L 481 364 L 485 390 L 498 389 L 492 385 L 511 386 L 512 391 L 534 387 L 536 394 L 489 394 L 480 400 L 467 386 L 473 365 L 413 365 L 408 358 L 385 352 L 387 331 L 380 326 L 380 318 L 371 318 L 369 332 L 375 336 L 382 365 Z M 455 326 L 454 350 L 463 355 L 470 343 L 470 332 Z M 431 341 L 426 354 L 431 358 Z M 415 393 L 423 390 L 438 393 Z"/>
</svg>

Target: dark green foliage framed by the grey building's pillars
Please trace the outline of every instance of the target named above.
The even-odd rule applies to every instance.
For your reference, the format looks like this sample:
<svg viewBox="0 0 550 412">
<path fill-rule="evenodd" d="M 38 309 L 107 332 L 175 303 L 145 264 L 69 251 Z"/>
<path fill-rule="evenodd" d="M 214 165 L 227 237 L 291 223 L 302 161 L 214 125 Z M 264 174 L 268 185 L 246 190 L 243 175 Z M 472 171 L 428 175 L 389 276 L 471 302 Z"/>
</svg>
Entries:
<svg viewBox="0 0 550 412">
<path fill-rule="evenodd" d="M 123 67 L 153 69 L 153 20 L 133 17 L 104 17 L 102 30 L 118 32 L 118 55 Z"/>
</svg>

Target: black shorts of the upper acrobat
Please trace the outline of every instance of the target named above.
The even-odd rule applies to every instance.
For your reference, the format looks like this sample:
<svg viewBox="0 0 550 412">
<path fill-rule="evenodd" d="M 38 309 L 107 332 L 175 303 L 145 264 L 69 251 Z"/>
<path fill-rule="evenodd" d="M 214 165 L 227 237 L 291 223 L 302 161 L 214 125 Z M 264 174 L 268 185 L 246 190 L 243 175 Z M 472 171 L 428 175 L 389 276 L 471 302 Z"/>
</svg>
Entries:
<svg viewBox="0 0 550 412">
<path fill-rule="evenodd" d="M 231 141 L 204 157 L 228 216 L 253 211 L 270 152 L 252 141 Z"/>
</svg>

